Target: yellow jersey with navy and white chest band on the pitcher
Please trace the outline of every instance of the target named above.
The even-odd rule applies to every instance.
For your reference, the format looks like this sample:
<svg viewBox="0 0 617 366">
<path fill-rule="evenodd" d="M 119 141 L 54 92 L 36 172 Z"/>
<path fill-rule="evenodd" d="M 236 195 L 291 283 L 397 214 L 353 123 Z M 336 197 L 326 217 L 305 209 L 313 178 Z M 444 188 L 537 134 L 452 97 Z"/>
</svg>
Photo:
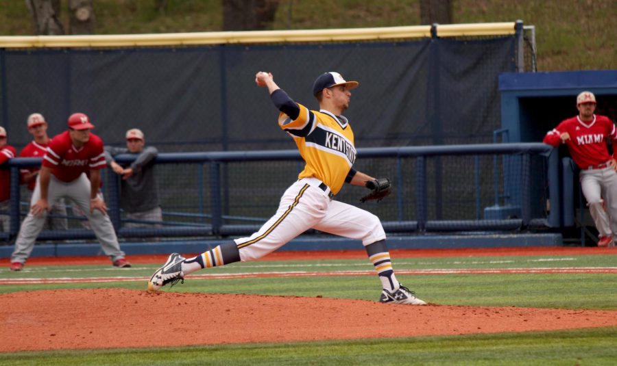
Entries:
<svg viewBox="0 0 617 366">
<path fill-rule="evenodd" d="M 356 161 L 354 133 L 344 116 L 321 110 L 312 111 L 297 103 L 300 114 L 291 120 L 281 113 L 278 125 L 289 133 L 306 162 L 298 179 L 314 177 L 337 194 Z"/>
</svg>

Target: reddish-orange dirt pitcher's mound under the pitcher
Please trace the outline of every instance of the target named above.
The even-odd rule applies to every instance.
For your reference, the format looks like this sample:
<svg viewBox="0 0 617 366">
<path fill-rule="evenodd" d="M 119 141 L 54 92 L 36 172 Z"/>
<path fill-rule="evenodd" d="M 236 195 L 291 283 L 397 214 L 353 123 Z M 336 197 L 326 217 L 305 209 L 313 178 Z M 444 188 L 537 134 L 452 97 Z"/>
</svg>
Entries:
<svg viewBox="0 0 617 366">
<path fill-rule="evenodd" d="M 0 352 L 591 328 L 617 326 L 616 315 L 293 296 L 43 290 L 0 295 Z"/>
</svg>

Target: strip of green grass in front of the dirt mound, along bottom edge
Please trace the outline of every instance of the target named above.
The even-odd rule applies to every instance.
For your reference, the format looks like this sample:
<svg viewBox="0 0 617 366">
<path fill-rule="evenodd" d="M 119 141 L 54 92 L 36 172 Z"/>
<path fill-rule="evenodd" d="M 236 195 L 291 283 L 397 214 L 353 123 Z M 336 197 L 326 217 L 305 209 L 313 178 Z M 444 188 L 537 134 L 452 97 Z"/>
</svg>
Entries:
<svg viewBox="0 0 617 366">
<path fill-rule="evenodd" d="M 0 365 L 614 365 L 617 328 L 367 341 L 0 354 Z"/>
</svg>

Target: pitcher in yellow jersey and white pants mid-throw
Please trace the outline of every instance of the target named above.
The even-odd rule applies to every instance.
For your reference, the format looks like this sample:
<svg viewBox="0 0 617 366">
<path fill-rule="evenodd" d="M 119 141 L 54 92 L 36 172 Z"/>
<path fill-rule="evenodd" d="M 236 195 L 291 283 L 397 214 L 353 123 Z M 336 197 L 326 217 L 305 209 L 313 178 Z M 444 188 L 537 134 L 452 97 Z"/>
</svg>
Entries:
<svg viewBox="0 0 617 366">
<path fill-rule="evenodd" d="M 424 305 L 415 293 L 401 285 L 392 267 L 385 244 L 385 231 L 379 218 L 348 205 L 333 196 L 343 183 L 372 189 L 362 200 L 380 200 L 390 192 L 388 179 L 375 179 L 352 168 L 356 159 L 354 134 L 342 113 L 348 109 L 351 90 L 357 81 L 346 81 L 339 73 L 324 73 L 313 83 L 313 95 L 319 111 L 295 103 L 274 83 L 271 73 L 259 72 L 255 81 L 267 88 L 271 101 L 280 110 L 278 125 L 293 138 L 306 166 L 283 194 L 278 210 L 256 233 L 235 239 L 185 259 L 173 253 L 148 281 L 149 291 L 171 283 L 206 267 L 237 261 L 254 261 L 285 245 L 309 228 L 352 239 L 359 239 L 373 263 L 383 290 L 380 302 Z"/>
</svg>

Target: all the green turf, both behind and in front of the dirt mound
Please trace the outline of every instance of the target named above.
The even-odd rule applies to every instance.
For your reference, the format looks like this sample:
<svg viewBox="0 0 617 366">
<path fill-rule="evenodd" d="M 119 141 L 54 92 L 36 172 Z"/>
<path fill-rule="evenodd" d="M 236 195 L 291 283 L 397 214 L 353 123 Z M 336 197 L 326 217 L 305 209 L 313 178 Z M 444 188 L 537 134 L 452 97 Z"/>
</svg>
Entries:
<svg viewBox="0 0 617 366">
<path fill-rule="evenodd" d="M 612 255 L 397 258 L 396 270 L 511 270 L 614 268 Z M 3 267 L 0 280 L 19 278 L 133 277 L 112 283 L 2 285 L 0 293 L 37 289 L 123 287 L 144 289 L 158 265 L 128 270 L 108 265 Z M 364 260 L 258 261 L 198 274 L 337 272 L 371 270 Z M 617 310 L 617 276 L 605 274 L 403 274 L 399 279 L 436 304 Z M 165 289 L 170 291 L 170 289 Z M 186 280 L 178 292 L 259 293 L 376 300 L 374 276 L 210 278 Z M 70 311 L 68 309 L 67 311 Z M 616 313 L 617 315 L 617 313 Z M 191 316 L 191 315 L 187 315 Z M 413 326 L 413 319 L 409 326 Z M 122 329 L 121 331 L 130 331 Z M 137 337 L 138 335 L 136 335 Z M 561 330 L 361 341 L 217 345 L 186 348 L 19 352 L 0 354 L 0 365 L 614 365 L 617 328 Z"/>
</svg>

